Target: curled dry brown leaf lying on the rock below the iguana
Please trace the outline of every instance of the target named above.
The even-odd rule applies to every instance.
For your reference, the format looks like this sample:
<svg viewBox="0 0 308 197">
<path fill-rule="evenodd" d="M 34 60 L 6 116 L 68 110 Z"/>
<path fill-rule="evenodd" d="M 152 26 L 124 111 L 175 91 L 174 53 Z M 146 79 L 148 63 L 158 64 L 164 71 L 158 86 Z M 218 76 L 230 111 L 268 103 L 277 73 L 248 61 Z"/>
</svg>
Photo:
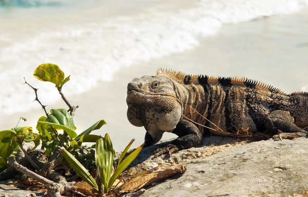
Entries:
<svg viewBox="0 0 308 197">
<path fill-rule="evenodd" d="M 170 168 L 166 168 L 160 171 L 151 171 L 147 174 L 138 175 L 125 184 L 123 184 L 119 190 L 120 193 L 124 192 L 134 192 L 137 191 L 147 185 L 155 183 L 159 180 L 166 179 L 171 176 L 175 176 L 178 173 L 184 173 L 186 171 L 186 165 L 176 165 Z"/>
</svg>

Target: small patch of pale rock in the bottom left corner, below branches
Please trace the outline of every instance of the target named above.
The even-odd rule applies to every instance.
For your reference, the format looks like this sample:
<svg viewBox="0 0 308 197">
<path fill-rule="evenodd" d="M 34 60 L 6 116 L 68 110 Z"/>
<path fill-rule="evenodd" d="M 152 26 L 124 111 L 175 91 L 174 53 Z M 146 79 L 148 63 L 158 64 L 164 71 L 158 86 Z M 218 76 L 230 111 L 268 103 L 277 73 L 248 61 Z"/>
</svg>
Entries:
<svg viewBox="0 0 308 197">
<path fill-rule="evenodd" d="M 1 181 L 0 182 L 0 197 L 34 197 L 44 196 L 42 192 L 23 190 L 15 187 L 12 181 Z"/>
</svg>

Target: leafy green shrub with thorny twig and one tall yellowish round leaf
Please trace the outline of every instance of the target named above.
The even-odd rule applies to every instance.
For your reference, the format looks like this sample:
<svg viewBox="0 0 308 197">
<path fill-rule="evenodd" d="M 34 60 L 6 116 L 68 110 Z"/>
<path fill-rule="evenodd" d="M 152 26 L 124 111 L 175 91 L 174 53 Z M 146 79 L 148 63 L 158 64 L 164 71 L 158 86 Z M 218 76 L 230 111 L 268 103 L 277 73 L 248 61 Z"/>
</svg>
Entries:
<svg viewBox="0 0 308 197">
<path fill-rule="evenodd" d="M 45 155 L 49 157 L 54 156 L 53 161 L 57 158 L 57 155 L 60 152 L 60 150 L 57 151 L 57 147 L 64 146 L 73 155 L 78 156 L 79 152 L 81 152 L 80 150 L 82 149 L 81 146 L 83 143 L 83 141 L 80 140 L 81 137 L 85 137 L 86 140 L 91 139 L 91 136 L 86 136 L 93 130 L 100 129 L 104 124 L 106 124 L 104 120 L 99 120 L 88 129 L 84 130 L 80 135 L 77 135 L 75 132 L 76 127 L 73 121 L 73 115 L 78 106 L 71 106 L 62 93 L 62 87 L 70 80 L 70 76 L 65 77 L 64 72 L 59 68 L 59 66 L 52 63 L 39 65 L 35 69 L 33 75 L 41 81 L 48 81 L 55 84 L 62 99 L 69 106 L 69 110 L 64 108 L 51 109 L 50 113 L 47 113 L 46 105 L 43 105 L 41 101 L 38 100 L 38 89 L 31 86 L 25 80 L 25 83 L 34 90 L 35 100 L 41 104 L 46 116 L 42 116 L 37 121 L 36 130 L 38 131 L 38 134 L 34 133 L 30 126 L 16 127 L 0 132 L 0 172 L 6 169 L 7 160 L 12 154 L 14 154 L 16 148 L 21 147 L 23 150 L 22 144 L 24 142 L 34 141 L 35 147 L 37 147 L 40 144 L 40 141 L 42 141 L 42 149 L 45 149 Z M 59 130 L 63 130 L 63 133 L 58 133 Z M 25 152 L 25 150 L 23 151 Z M 25 155 L 26 154 L 27 152 L 25 152 Z M 30 162 L 34 165 L 32 161 Z M 91 161 L 86 162 L 91 163 Z"/>
</svg>

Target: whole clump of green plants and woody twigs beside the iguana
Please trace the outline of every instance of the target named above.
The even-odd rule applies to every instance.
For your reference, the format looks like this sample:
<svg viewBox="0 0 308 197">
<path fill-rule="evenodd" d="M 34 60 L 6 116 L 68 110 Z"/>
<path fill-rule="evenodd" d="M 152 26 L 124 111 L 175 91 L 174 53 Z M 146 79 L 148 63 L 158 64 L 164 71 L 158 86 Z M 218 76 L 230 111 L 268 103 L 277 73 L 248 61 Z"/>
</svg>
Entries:
<svg viewBox="0 0 308 197">
<path fill-rule="evenodd" d="M 19 171 L 31 180 L 44 184 L 49 196 L 61 196 L 64 193 L 84 196 L 85 193 L 80 192 L 73 182 L 81 177 L 93 187 L 87 195 L 115 195 L 115 189 L 121 185 L 120 174 L 137 157 L 143 145 L 125 157 L 134 141 L 131 140 L 116 163 L 109 135 L 102 137 L 91 134 L 93 130 L 106 124 L 104 120 L 97 121 L 79 135 L 76 133 L 73 116 L 79 106 L 72 106 L 62 92 L 62 87 L 70 80 L 70 76 L 65 77 L 64 72 L 51 63 L 39 65 L 33 75 L 41 81 L 54 83 L 68 110 L 51 109 L 48 113 L 47 105 L 43 105 L 38 99 L 38 89 L 25 79 L 25 83 L 34 90 L 35 100 L 42 106 L 45 116 L 38 119 L 35 127 L 37 132 L 31 126 L 16 126 L 0 132 L 0 181 L 13 179 Z M 87 147 L 83 145 L 84 142 L 95 144 Z M 40 144 L 41 151 L 34 150 Z M 43 161 L 42 158 L 46 160 Z M 96 180 L 90 173 L 96 174 Z M 117 180 L 117 184 L 114 184 Z"/>
</svg>

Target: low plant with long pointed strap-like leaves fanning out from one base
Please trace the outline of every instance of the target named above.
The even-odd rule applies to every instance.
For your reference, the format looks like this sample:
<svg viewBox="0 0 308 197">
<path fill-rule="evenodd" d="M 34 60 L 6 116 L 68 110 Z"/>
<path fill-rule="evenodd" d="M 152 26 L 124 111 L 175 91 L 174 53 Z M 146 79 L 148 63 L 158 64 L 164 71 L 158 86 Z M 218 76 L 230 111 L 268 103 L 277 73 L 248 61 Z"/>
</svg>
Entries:
<svg viewBox="0 0 308 197">
<path fill-rule="evenodd" d="M 92 136 L 94 138 L 94 135 Z M 112 189 L 114 181 L 120 177 L 120 174 L 125 170 L 125 168 L 127 168 L 127 166 L 138 156 L 143 145 L 133 150 L 131 154 L 124 159 L 129 147 L 134 141 L 131 140 L 122 152 L 118 164 L 115 165 L 113 172 L 112 167 L 115 152 L 113 150 L 111 139 L 108 134 L 106 134 L 105 137 L 97 136 L 97 138 L 98 140 L 95 144 L 97 182 L 94 181 L 87 169 L 65 148 L 62 148 L 62 155 L 84 181 L 90 184 L 95 190 L 98 190 L 99 193 L 103 194 L 108 193 Z"/>
</svg>

